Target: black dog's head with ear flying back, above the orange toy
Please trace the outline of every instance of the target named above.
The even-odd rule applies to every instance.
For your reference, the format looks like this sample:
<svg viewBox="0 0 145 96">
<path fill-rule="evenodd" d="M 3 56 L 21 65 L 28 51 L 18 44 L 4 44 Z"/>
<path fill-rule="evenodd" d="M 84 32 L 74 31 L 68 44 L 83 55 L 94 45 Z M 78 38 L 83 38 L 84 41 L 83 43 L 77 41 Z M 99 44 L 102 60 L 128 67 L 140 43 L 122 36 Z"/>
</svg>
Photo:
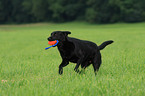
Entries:
<svg viewBox="0 0 145 96">
<path fill-rule="evenodd" d="M 48 41 L 65 41 L 68 34 L 71 34 L 69 31 L 54 31 L 51 33 L 51 36 L 48 37 Z"/>
</svg>

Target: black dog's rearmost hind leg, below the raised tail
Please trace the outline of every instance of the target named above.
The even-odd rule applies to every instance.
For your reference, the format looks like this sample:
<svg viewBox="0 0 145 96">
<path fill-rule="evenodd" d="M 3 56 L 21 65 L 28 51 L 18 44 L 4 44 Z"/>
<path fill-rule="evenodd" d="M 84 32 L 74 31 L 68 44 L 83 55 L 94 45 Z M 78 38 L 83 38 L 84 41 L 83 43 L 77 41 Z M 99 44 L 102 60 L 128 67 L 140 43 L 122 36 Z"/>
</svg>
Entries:
<svg viewBox="0 0 145 96">
<path fill-rule="evenodd" d="M 99 55 L 97 54 L 93 60 L 93 68 L 94 68 L 94 72 L 95 75 L 97 75 L 96 71 L 99 71 L 100 65 L 101 65 L 101 54 L 99 53 Z"/>
</svg>

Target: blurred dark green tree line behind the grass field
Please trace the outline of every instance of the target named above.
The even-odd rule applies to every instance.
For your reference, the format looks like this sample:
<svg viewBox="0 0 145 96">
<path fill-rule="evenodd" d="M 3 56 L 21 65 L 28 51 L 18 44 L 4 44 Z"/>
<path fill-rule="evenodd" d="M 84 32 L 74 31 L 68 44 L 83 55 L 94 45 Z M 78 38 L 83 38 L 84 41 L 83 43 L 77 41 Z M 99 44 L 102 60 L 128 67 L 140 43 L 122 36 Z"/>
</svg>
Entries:
<svg viewBox="0 0 145 96">
<path fill-rule="evenodd" d="M 145 0 L 0 0 L 0 23 L 145 21 Z"/>
</svg>

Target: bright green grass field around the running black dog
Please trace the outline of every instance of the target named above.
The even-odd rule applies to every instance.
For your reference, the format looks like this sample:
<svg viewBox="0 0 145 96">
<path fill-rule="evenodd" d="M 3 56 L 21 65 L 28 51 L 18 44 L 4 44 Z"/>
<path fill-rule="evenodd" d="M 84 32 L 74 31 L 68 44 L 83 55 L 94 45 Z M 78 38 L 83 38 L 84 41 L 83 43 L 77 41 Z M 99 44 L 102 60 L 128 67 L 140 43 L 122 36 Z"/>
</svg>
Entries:
<svg viewBox="0 0 145 96">
<path fill-rule="evenodd" d="M 58 74 L 57 48 L 44 50 L 54 30 L 98 45 L 115 41 L 101 51 L 96 77 L 92 66 L 75 73 L 73 63 Z M 0 96 L 145 96 L 145 23 L 0 25 Z"/>
</svg>

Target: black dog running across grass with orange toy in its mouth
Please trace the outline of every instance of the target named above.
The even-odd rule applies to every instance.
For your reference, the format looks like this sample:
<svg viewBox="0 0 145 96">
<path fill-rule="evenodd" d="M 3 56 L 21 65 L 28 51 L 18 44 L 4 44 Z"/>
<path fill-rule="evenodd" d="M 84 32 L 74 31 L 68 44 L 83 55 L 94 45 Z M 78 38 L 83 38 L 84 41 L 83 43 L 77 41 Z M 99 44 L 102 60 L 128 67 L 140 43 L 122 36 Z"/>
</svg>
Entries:
<svg viewBox="0 0 145 96">
<path fill-rule="evenodd" d="M 99 70 L 101 65 L 100 50 L 104 49 L 107 45 L 113 43 L 112 40 L 103 42 L 100 46 L 95 43 L 76 38 L 68 37 L 71 34 L 69 31 L 54 31 L 48 38 L 49 41 L 58 40 L 57 45 L 62 63 L 59 65 L 59 74 L 63 73 L 63 67 L 67 66 L 69 62 L 77 63 L 74 70 L 78 70 L 79 66 L 85 69 L 90 64 L 93 64 L 94 72 Z"/>
</svg>

